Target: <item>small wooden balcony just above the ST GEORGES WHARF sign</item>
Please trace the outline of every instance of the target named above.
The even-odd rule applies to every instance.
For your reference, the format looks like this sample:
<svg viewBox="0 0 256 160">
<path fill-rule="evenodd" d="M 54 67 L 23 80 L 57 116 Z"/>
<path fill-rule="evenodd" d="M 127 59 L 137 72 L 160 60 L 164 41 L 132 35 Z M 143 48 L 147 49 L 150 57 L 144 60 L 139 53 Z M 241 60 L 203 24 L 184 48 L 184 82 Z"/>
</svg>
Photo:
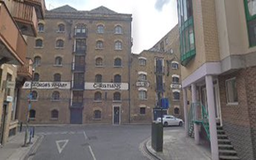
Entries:
<svg viewBox="0 0 256 160">
<path fill-rule="evenodd" d="M 21 77 L 25 77 L 27 80 L 32 78 L 32 65 L 33 61 L 29 58 L 26 59 L 25 65 L 18 66 L 17 75 Z"/>
</svg>

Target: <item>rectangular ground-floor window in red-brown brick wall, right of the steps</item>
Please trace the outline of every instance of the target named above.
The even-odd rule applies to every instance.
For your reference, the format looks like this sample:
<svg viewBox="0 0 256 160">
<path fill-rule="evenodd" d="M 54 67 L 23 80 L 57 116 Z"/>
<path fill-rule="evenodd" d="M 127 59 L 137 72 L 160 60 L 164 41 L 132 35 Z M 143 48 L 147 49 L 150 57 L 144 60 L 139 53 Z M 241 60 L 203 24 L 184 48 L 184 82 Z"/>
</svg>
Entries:
<svg viewBox="0 0 256 160">
<path fill-rule="evenodd" d="M 226 80 L 226 99 L 228 103 L 238 103 L 238 92 L 235 78 Z"/>
</svg>

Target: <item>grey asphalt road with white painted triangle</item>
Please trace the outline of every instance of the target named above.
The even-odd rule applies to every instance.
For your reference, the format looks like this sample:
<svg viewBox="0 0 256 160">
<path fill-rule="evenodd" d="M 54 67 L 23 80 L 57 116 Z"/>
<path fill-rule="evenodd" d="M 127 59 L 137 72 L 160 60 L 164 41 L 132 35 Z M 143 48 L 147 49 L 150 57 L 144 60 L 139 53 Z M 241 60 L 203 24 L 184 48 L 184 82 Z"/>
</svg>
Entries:
<svg viewBox="0 0 256 160">
<path fill-rule="evenodd" d="M 36 134 L 44 138 L 33 160 L 149 159 L 140 144 L 151 135 L 150 125 L 37 127 Z"/>
</svg>

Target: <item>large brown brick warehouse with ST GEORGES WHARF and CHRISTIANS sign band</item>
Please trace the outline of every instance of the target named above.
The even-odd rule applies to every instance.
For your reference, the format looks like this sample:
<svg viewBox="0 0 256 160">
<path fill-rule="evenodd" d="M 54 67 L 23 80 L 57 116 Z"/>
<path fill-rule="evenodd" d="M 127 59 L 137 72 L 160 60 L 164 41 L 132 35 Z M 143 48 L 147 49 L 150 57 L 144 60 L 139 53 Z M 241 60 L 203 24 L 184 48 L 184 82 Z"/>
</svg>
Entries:
<svg viewBox="0 0 256 160">
<path fill-rule="evenodd" d="M 128 123 L 131 14 L 105 7 L 46 11 L 28 49 L 34 60 L 31 123 Z M 28 111 L 31 81 L 18 101 Z"/>
</svg>

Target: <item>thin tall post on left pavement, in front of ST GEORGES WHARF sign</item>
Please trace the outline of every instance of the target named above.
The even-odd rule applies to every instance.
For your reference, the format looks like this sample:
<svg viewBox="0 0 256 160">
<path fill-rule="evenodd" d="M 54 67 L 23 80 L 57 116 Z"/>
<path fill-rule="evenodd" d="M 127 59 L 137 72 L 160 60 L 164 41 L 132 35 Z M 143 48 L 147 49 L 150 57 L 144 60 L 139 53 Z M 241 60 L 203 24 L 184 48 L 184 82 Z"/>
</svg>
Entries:
<svg viewBox="0 0 256 160">
<path fill-rule="evenodd" d="M 25 147 L 27 146 L 27 131 L 28 131 L 28 124 L 30 123 L 30 109 L 31 109 L 32 85 L 33 85 L 34 72 L 35 72 L 35 65 L 32 64 L 32 77 L 31 77 L 31 83 L 30 83 L 30 95 L 28 96 L 28 111 L 27 111 L 25 140 L 24 140 Z"/>
</svg>

